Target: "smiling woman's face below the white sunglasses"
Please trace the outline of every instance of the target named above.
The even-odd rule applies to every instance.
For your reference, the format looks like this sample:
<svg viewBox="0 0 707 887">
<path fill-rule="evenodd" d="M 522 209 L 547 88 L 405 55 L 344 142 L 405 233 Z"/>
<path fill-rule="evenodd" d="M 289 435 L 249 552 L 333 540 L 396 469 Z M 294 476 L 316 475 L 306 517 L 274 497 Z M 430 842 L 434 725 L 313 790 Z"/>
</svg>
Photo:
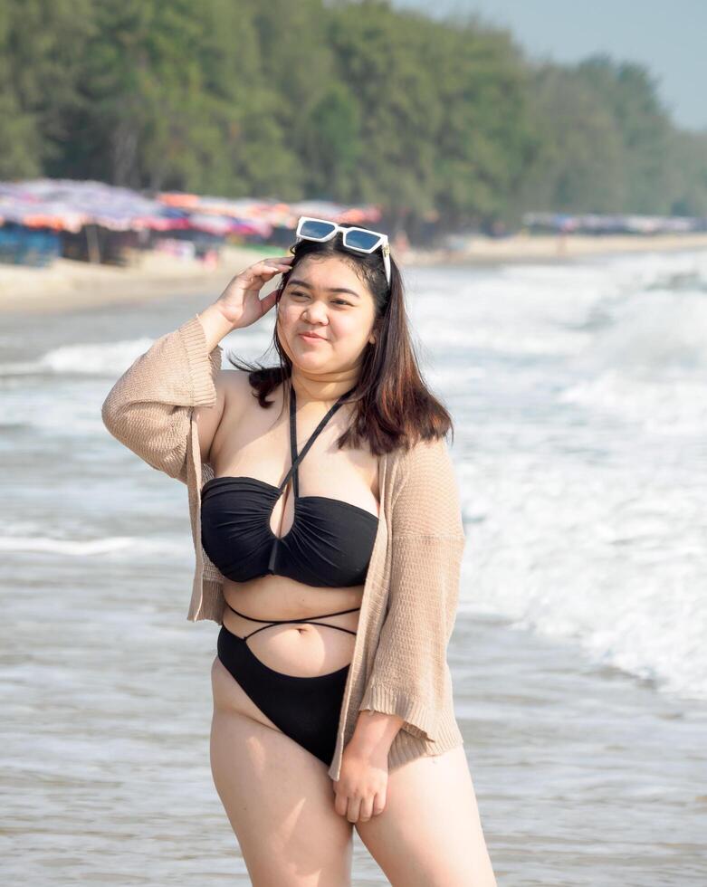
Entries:
<svg viewBox="0 0 707 887">
<path fill-rule="evenodd" d="M 282 348 L 307 373 L 357 367 L 371 339 L 376 306 L 368 287 L 336 256 L 307 258 L 291 271 L 277 306 Z M 303 332 L 319 339 L 305 339 Z"/>
</svg>

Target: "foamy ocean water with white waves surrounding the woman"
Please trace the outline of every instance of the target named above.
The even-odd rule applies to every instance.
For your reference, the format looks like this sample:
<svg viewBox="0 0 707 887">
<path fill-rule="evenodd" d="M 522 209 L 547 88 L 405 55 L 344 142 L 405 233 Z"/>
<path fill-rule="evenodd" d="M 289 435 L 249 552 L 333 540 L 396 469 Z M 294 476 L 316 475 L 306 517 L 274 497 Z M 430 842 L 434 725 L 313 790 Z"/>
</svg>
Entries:
<svg viewBox="0 0 707 887">
<path fill-rule="evenodd" d="M 449 659 L 498 882 L 703 885 L 707 253 L 406 281 L 454 418 Z M 3 883 L 248 883 L 209 770 L 186 488 L 100 420 L 215 295 L 0 318 Z M 259 358 L 272 320 L 222 345 Z M 358 836 L 353 882 L 386 883 Z"/>
</svg>

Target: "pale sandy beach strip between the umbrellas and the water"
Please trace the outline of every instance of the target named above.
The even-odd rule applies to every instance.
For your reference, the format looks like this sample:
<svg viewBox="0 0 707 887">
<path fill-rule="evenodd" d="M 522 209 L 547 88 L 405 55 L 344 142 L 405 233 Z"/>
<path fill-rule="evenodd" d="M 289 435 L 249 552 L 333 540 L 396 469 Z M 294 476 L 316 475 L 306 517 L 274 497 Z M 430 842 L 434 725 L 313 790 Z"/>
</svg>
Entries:
<svg viewBox="0 0 707 887">
<path fill-rule="evenodd" d="M 470 268 L 528 262 L 554 264 L 588 256 L 685 250 L 707 250 L 707 233 L 514 234 L 502 239 L 480 236 L 470 238 L 463 250 L 411 248 L 397 254 L 396 261 L 405 271 L 438 264 Z M 140 262 L 127 268 L 72 259 L 57 259 L 49 268 L 0 264 L 0 314 L 100 308 L 209 290 L 216 299 L 235 274 L 267 254 L 279 253 L 278 247 L 266 253 L 262 248 L 228 246 L 215 267 L 159 253 L 145 253 Z"/>
</svg>

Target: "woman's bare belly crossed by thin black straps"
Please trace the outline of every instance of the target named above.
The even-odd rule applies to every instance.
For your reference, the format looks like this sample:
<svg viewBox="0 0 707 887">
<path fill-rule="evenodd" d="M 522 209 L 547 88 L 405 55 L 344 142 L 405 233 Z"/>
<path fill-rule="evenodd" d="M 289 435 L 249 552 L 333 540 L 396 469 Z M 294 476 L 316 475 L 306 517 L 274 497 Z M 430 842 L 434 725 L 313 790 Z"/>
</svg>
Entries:
<svg viewBox="0 0 707 887">
<path fill-rule="evenodd" d="M 363 586 L 320 588 L 303 585 L 283 576 L 263 576 L 250 582 L 225 578 L 224 596 L 239 613 L 255 619 L 316 619 L 326 625 L 307 623 L 268 625 L 253 622 L 225 607 L 224 625 L 232 634 L 248 637 L 252 653 L 276 672 L 314 677 L 335 672 L 351 662 L 358 609 L 353 613 L 324 616 L 361 605 Z M 319 618 L 321 617 L 321 618 Z M 338 627 L 330 627 L 338 626 Z M 349 629 L 341 631 L 340 629 Z M 261 630 L 258 630 L 261 629 Z"/>
</svg>

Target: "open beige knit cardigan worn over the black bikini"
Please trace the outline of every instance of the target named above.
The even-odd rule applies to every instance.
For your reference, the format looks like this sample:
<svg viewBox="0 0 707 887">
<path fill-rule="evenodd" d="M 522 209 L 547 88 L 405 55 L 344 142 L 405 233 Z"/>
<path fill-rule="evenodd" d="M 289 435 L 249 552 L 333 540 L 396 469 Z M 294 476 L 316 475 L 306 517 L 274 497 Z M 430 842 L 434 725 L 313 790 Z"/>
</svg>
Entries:
<svg viewBox="0 0 707 887">
<path fill-rule="evenodd" d="M 201 462 L 195 406 L 215 404 L 222 348 L 207 351 L 198 314 L 156 339 L 110 389 L 101 416 L 141 459 L 186 483 L 196 569 L 186 618 L 221 625 L 224 577 L 201 544 Z M 464 533 L 444 438 L 379 457 L 380 515 L 363 590 L 329 775 L 363 709 L 404 719 L 388 769 L 463 743 L 446 660 L 454 628 Z"/>
</svg>

